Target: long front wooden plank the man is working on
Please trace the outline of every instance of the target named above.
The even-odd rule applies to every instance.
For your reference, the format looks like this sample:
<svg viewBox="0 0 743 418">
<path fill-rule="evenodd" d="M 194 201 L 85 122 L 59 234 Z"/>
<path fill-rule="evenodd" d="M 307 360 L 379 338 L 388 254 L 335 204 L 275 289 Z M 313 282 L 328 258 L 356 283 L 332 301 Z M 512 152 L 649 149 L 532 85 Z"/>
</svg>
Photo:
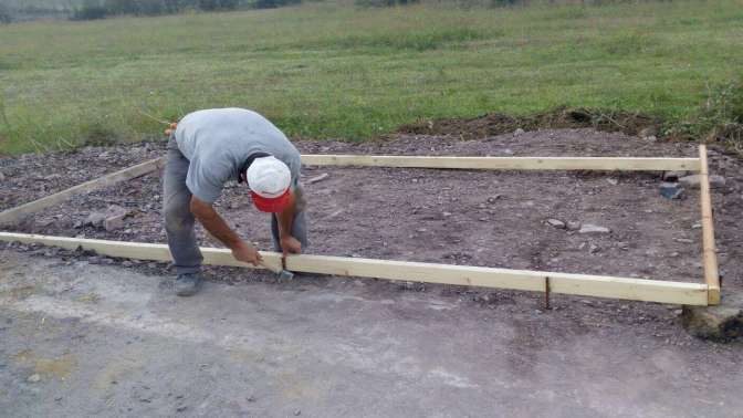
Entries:
<svg viewBox="0 0 743 418">
<path fill-rule="evenodd" d="M 164 244 L 10 232 L 0 232 L 0 241 L 35 242 L 70 250 L 82 248 L 109 257 L 170 260 L 170 252 Z M 250 264 L 236 261 L 231 252 L 226 249 L 202 248 L 201 251 L 207 264 L 252 268 Z M 262 254 L 270 267 L 278 268 L 281 264 L 279 253 L 262 252 Z M 287 258 L 286 268 L 294 272 L 315 274 L 406 280 L 533 292 L 544 291 L 546 278 L 550 278 L 550 288 L 554 293 L 688 305 L 705 305 L 708 303 L 708 286 L 702 283 L 304 254 Z"/>
</svg>

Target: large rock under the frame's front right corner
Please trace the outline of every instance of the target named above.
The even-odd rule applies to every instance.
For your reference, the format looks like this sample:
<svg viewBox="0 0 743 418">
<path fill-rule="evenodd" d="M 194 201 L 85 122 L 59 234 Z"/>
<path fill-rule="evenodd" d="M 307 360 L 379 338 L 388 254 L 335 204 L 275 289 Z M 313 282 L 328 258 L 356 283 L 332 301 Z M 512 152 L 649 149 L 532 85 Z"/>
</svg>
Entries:
<svg viewBox="0 0 743 418">
<path fill-rule="evenodd" d="M 725 289 L 716 306 L 683 306 L 681 323 L 699 338 L 724 342 L 743 337 L 743 292 Z"/>
</svg>

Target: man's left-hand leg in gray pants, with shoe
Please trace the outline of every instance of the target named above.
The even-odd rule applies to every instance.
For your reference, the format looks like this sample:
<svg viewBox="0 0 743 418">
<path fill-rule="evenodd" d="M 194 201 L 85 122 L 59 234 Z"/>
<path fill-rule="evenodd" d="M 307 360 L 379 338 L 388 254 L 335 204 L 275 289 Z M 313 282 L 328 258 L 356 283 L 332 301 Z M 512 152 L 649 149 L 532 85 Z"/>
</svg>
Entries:
<svg viewBox="0 0 743 418">
<path fill-rule="evenodd" d="M 168 247 L 172 254 L 178 279 L 176 292 L 188 296 L 198 291 L 197 273 L 203 257 L 196 241 L 195 218 L 191 213 L 191 192 L 186 187 L 188 159 L 178 149 L 174 137 L 168 142 L 168 157 L 163 178 L 163 211 Z"/>
</svg>

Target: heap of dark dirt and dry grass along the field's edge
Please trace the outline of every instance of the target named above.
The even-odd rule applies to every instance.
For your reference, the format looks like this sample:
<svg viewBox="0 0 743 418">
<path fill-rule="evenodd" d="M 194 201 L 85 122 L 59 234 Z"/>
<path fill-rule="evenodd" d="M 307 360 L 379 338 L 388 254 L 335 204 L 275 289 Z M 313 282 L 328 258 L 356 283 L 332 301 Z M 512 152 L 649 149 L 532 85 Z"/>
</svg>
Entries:
<svg viewBox="0 0 743 418">
<path fill-rule="evenodd" d="M 501 113 L 490 113 L 469 119 L 443 118 L 423 121 L 417 124 L 405 125 L 398 129 L 398 133 L 452 135 L 463 139 L 479 139 L 512 133 L 516 129 L 536 130 L 540 128 L 592 127 L 598 130 L 638 135 L 643 129 L 658 132 L 660 126 L 661 122 L 659 119 L 639 113 L 584 107 L 558 107 L 533 116 L 510 116 Z"/>
</svg>

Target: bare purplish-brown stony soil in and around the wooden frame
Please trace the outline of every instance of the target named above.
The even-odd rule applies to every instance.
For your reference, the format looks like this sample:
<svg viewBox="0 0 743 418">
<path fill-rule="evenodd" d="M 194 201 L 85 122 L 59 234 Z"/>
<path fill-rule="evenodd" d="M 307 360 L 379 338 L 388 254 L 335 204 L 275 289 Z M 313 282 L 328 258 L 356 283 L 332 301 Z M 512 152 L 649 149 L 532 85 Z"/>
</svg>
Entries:
<svg viewBox="0 0 743 418">
<path fill-rule="evenodd" d="M 687 143 L 657 143 L 621 133 L 594 129 L 550 129 L 461 140 L 453 136 L 402 135 L 394 140 L 353 145 L 300 142 L 303 153 L 397 154 L 462 156 L 697 156 Z M 76 182 L 115 167 L 140 163 L 163 154 L 164 144 L 138 144 L 114 148 L 87 148 L 53 156 L 25 156 L 0 160 L 6 205 L 39 197 L 39 178 L 73 173 Z M 96 158 L 106 153 L 108 158 Z M 134 158 L 133 156 L 137 157 Z M 118 160 L 121 158 L 121 160 Z M 135 160 L 136 159 L 136 160 Z M 115 161 L 115 163 L 114 163 Z M 126 161 L 126 163 L 122 163 Z M 713 190 L 716 243 L 725 288 L 742 289 L 743 233 L 740 205 L 743 200 L 743 164 L 721 149 L 711 151 L 711 170 L 726 178 Z M 305 167 L 311 247 L 308 253 L 365 257 L 450 264 L 486 265 L 702 281 L 701 229 L 698 190 L 687 189 L 680 200 L 660 196 L 661 173 L 516 173 L 393 168 Z M 56 177 L 55 177 L 56 178 Z M 72 186 L 71 184 L 69 186 Z M 25 195 L 23 189 L 33 188 Z M 48 187 L 52 191 L 53 187 Z M 158 174 L 106 190 L 79 196 L 39 213 L 17 228 L 22 232 L 113 240 L 165 242 Z M 11 196 L 7 198 L 7 196 Z M 123 229 L 106 231 L 83 226 L 93 211 L 117 205 L 130 210 Z M 268 216 L 252 208 L 243 186 L 228 185 L 218 201 L 240 233 L 270 249 Z M 593 223 L 610 229 L 606 234 L 582 234 L 547 224 L 547 219 Z M 206 245 L 203 233 L 199 234 Z M 7 245 L 6 245 L 7 247 Z M 155 274 L 163 263 L 112 260 L 34 245 L 12 245 L 40 255 L 61 255 L 72 262 L 85 258 L 94 263 L 123 263 Z M 271 280 L 266 273 L 208 268 L 212 280 L 241 282 Z M 305 278 L 303 278 L 305 280 Z M 306 280 L 327 280 L 306 278 Z M 541 296 L 507 291 L 484 291 L 422 284 L 379 284 L 396 290 L 435 292 L 465 297 L 483 305 L 507 305 L 538 321 Z M 387 288 L 385 288 L 387 289 Z M 526 305 L 517 302 L 526 302 Z M 647 324 L 648 332 L 670 341 L 679 336 L 669 324 L 678 323 L 678 306 L 599 301 L 558 296 L 557 310 L 593 324 Z M 603 325 L 597 325 L 603 326 Z M 555 333 L 559 333 L 555 330 Z M 682 338 L 683 339 L 683 338 Z M 688 342 L 687 339 L 683 339 Z"/>
</svg>

